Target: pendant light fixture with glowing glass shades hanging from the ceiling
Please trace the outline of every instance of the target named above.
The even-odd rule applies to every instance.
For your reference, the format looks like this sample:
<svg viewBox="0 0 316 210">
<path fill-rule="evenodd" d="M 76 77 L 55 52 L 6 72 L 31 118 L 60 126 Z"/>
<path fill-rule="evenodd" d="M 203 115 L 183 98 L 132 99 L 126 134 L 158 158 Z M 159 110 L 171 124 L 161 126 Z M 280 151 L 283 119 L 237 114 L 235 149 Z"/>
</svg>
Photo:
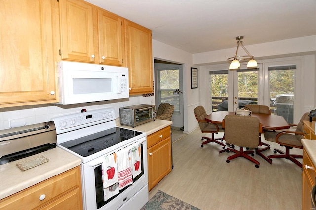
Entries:
<svg viewBox="0 0 316 210">
<path fill-rule="evenodd" d="M 239 61 L 248 61 L 247 67 L 249 68 L 254 68 L 257 67 L 257 61 L 253 59 L 253 56 L 250 55 L 250 53 L 248 52 L 248 50 L 243 46 L 241 39 L 243 39 L 243 36 L 237 36 L 236 40 L 237 41 L 237 49 L 235 52 L 234 57 L 228 58 L 228 61 L 232 61 L 231 64 L 229 65 L 229 69 L 238 69 L 240 67 L 240 62 Z M 237 56 L 237 52 L 238 52 L 238 48 L 239 46 L 241 46 L 244 51 L 246 51 L 246 53 L 248 55 L 241 55 L 241 56 Z"/>
</svg>

